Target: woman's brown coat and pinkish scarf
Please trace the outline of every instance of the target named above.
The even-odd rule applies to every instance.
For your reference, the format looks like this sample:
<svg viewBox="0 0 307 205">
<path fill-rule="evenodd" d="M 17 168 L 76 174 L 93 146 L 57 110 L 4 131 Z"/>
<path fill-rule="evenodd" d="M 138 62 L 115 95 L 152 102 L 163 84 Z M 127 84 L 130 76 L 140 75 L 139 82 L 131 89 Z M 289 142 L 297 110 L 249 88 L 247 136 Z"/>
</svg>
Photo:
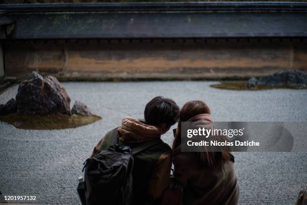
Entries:
<svg viewBox="0 0 307 205">
<path fill-rule="evenodd" d="M 191 122 L 212 122 L 209 115 L 196 116 Z M 203 122 L 204 123 L 204 122 Z M 236 205 L 239 187 L 233 161 L 217 167 L 200 165 L 197 152 L 181 152 L 179 144 L 174 150 L 174 176 L 183 188 L 184 205 Z"/>
</svg>

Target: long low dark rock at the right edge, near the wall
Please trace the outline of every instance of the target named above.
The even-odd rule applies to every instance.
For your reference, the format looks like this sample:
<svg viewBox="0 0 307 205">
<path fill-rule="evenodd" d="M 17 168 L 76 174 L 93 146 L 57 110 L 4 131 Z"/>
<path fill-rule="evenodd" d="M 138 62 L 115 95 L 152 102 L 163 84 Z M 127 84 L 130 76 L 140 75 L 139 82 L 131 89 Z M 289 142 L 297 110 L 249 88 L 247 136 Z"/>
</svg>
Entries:
<svg viewBox="0 0 307 205">
<path fill-rule="evenodd" d="M 307 75 L 297 70 L 287 70 L 273 73 L 259 78 L 258 85 L 291 85 L 291 86 L 307 86 Z"/>
</svg>

